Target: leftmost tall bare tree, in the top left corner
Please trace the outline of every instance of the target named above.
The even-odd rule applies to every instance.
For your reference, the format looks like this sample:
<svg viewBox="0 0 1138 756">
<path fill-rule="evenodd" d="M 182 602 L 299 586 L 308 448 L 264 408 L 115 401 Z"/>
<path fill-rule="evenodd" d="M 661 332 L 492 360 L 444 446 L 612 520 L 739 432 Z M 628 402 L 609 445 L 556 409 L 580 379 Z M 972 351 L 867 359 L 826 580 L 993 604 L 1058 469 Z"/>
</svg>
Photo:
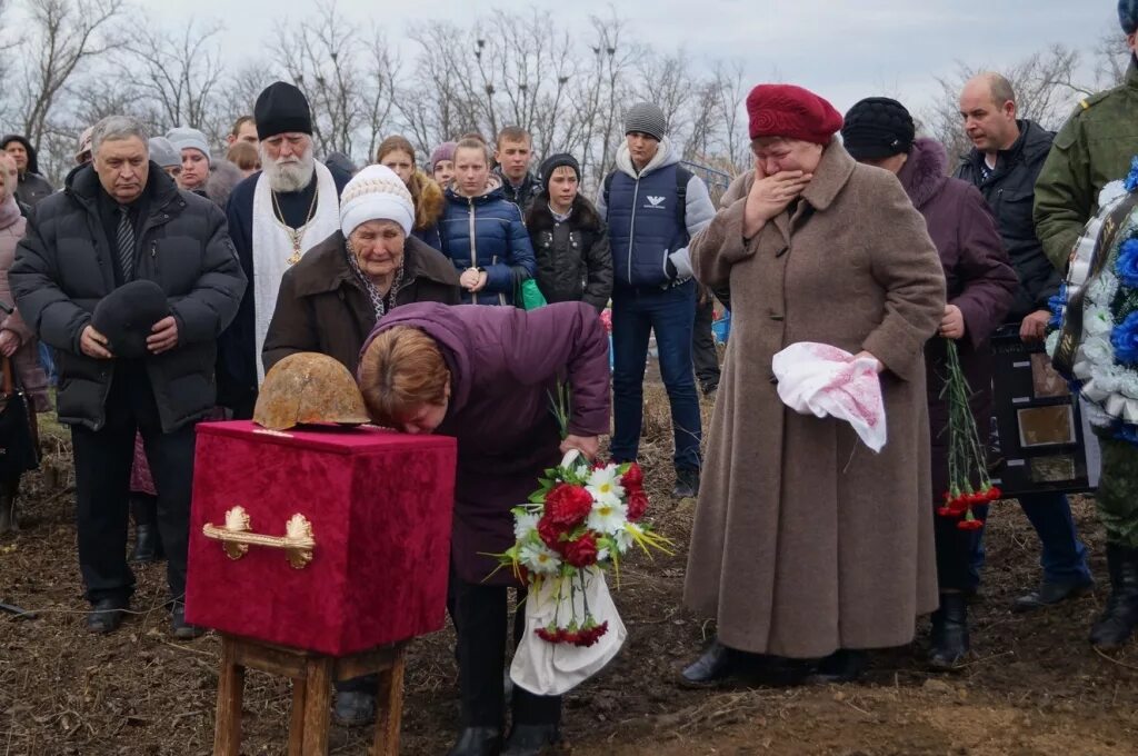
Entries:
<svg viewBox="0 0 1138 756">
<path fill-rule="evenodd" d="M 123 0 L 28 0 L 18 107 L 22 131 L 36 149 L 68 81 L 122 47 L 114 25 L 123 8 Z"/>
</svg>

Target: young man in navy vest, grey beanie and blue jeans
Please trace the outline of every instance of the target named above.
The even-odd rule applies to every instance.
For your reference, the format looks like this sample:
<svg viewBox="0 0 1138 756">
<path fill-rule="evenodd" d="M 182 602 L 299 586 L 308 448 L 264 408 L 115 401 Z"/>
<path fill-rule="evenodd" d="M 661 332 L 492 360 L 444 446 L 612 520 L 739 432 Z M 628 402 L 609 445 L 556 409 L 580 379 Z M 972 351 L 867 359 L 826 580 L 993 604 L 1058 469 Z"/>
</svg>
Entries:
<svg viewBox="0 0 1138 756">
<path fill-rule="evenodd" d="M 612 458 L 636 459 L 648 343 L 654 332 L 671 405 L 674 495 L 687 498 L 699 493 L 702 436 L 692 368 L 695 281 L 687 243 L 711 222 L 715 206 L 703 181 L 681 167 L 667 126 L 655 105 L 628 109 L 617 170 L 605 179 L 596 206 L 609 224 L 615 269 Z"/>
</svg>

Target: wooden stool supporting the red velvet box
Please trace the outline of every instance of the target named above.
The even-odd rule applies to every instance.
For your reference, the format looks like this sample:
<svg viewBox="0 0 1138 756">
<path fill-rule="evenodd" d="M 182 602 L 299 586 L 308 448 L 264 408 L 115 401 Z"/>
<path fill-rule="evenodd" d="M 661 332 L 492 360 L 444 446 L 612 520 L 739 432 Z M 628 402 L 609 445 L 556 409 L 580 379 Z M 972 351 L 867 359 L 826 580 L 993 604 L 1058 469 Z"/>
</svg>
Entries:
<svg viewBox="0 0 1138 756">
<path fill-rule="evenodd" d="M 332 683 L 379 673 L 376 747 L 372 753 L 374 756 L 395 756 L 399 753 L 405 648 L 406 643 L 396 643 L 351 656 L 333 657 L 223 633 L 214 756 L 240 755 L 241 698 L 246 667 L 292 679 L 288 756 L 327 754 Z"/>
</svg>

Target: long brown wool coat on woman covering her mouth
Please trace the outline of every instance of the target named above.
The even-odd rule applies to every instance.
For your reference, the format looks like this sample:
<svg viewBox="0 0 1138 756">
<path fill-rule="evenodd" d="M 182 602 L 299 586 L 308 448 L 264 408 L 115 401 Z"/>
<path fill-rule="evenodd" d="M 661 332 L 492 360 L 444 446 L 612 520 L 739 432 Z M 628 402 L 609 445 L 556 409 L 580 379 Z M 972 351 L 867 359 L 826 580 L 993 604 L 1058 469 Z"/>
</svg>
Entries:
<svg viewBox="0 0 1138 756">
<path fill-rule="evenodd" d="M 745 651 L 901 646 L 938 603 L 923 345 L 945 311 L 940 258 L 896 176 L 836 140 L 794 216 L 744 243 L 753 180 L 735 181 L 691 244 L 695 277 L 729 282 L 733 311 L 685 603 Z M 782 403 L 770 361 L 797 342 L 884 363 L 881 453 L 848 424 Z"/>
</svg>

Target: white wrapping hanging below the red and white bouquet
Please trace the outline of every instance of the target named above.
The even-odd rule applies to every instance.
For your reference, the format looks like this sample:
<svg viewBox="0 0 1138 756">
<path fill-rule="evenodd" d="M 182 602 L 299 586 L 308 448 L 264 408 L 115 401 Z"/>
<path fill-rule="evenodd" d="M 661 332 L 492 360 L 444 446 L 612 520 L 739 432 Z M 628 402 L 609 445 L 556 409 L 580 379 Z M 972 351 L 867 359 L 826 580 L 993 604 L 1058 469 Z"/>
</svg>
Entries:
<svg viewBox="0 0 1138 756">
<path fill-rule="evenodd" d="M 549 626 L 555 617 L 584 617 L 586 599 L 596 622 L 609 623 L 608 632 L 593 646 L 550 643 L 537 635 L 536 631 Z M 612 660 L 628 636 L 604 573 L 595 567 L 585 570 L 584 595 L 579 590 L 570 591 L 568 582 L 544 580 L 541 590 L 530 587 L 525 607 L 526 632 L 513 655 L 510 679 L 538 696 L 561 696 L 585 682 Z"/>
</svg>

